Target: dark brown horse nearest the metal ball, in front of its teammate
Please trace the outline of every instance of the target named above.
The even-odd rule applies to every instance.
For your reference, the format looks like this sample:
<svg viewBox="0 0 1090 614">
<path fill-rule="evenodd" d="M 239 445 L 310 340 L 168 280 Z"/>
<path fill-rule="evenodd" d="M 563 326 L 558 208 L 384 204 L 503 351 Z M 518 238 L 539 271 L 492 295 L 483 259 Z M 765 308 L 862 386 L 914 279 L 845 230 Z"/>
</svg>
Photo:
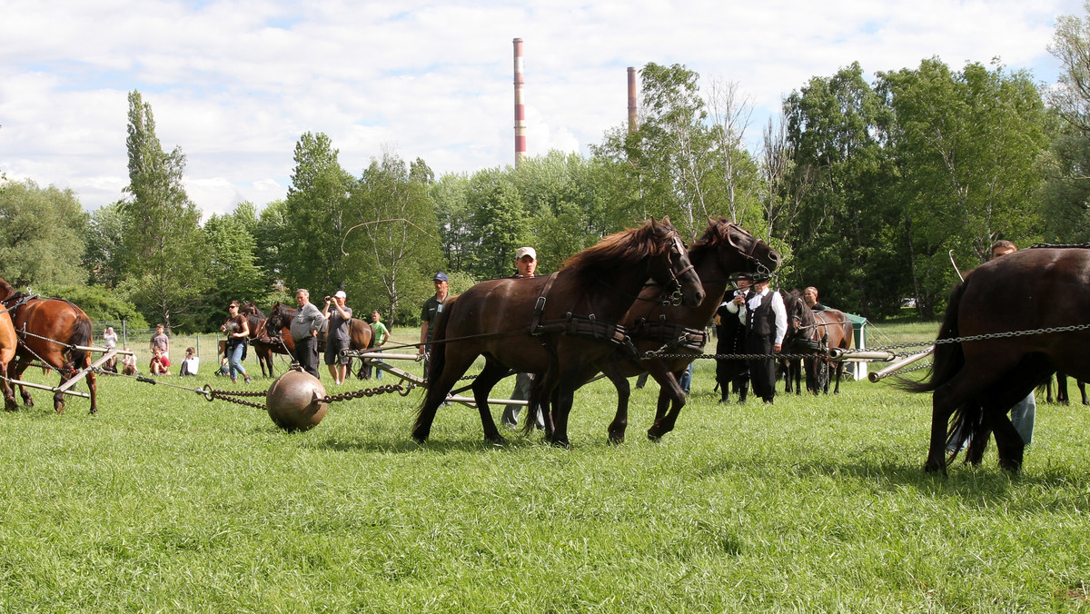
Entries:
<svg viewBox="0 0 1090 614">
<path fill-rule="evenodd" d="M 704 299 L 669 218 L 610 234 L 569 257 L 553 275 L 482 281 L 449 308 L 445 304 L 435 324 L 427 393 L 413 438 L 427 440 L 436 410 L 473 361 L 484 356 L 484 369 L 471 387 L 485 440 L 504 442 L 488 410 L 488 393 L 512 369 L 536 374 L 531 408 L 555 393 L 555 409 L 545 416 L 545 437 L 568 447 L 576 388 L 597 373 L 597 364 L 617 344 L 626 341 L 617 323 L 649 277 L 683 304 Z"/>
</svg>

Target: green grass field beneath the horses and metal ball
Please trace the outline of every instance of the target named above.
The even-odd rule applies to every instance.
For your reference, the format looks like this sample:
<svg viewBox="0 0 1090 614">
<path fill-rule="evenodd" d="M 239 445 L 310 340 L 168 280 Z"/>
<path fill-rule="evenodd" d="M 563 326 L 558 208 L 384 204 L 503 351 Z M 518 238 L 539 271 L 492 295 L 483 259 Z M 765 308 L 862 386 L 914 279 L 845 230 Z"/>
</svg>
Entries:
<svg viewBox="0 0 1090 614">
<path fill-rule="evenodd" d="M 659 444 L 643 436 L 656 386 L 615 447 L 615 395 L 592 384 L 570 450 L 486 446 L 460 406 L 417 446 L 419 390 L 336 404 L 299 434 L 132 380 L 100 378 L 98 416 L 83 399 L 57 416 L 38 392 L 0 425 L 0 611 L 1090 610 L 1082 406 L 1039 407 L 1022 474 L 993 448 L 943 480 L 921 470 L 929 396 L 864 381 L 719 405 L 713 373 L 698 362 Z"/>
</svg>

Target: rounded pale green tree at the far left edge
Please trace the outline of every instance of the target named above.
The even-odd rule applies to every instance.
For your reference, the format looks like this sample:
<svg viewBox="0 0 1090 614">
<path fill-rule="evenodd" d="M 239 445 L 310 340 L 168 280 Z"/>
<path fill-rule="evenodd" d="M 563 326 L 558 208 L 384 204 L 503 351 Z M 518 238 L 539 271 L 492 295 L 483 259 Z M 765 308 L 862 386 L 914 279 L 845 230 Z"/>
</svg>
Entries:
<svg viewBox="0 0 1090 614">
<path fill-rule="evenodd" d="M 83 284 L 87 214 L 71 190 L 33 181 L 0 191 L 0 276 L 13 286 Z"/>
</svg>

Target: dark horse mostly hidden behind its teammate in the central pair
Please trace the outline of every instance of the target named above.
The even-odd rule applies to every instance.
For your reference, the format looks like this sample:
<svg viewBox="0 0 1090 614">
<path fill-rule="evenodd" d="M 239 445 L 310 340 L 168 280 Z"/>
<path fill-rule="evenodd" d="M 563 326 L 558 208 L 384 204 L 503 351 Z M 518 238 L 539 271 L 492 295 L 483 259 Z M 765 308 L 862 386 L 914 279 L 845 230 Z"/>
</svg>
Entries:
<svg viewBox="0 0 1090 614">
<path fill-rule="evenodd" d="M 704 353 L 705 326 L 715 315 L 727 288 L 731 287 L 734 276 L 738 272 L 771 273 L 779 265 L 778 252 L 735 222 L 723 217 L 708 217 L 704 233 L 689 249 L 689 261 L 704 290 L 703 302 L 693 306 L 664 304 L 656 300 L 659 289 L 650 286 L 640 292 L 639 300 L 620 322 L 641 354 L 664 350 L 685 354 L 685 358 L 631 360 L 616 351 L 606 358 L 602 372 L 617 388 L 617 413 L 608 428 L 610 443 L 625 441 L 631 394 L 628 377 L 644 371 L 658 383 L 658 404 L 647 438 L 659 441 L 674 430 L 687 396 L 678 382 L 689 364 Z M 531 428 L 533 422 L 526 420 Z"/>
</svg>

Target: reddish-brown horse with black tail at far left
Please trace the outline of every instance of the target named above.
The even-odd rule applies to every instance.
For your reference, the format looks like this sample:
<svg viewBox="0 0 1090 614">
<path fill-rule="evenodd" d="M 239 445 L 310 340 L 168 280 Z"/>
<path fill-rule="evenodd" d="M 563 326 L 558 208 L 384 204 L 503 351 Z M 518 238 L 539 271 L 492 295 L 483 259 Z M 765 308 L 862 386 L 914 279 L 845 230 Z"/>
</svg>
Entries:
<svg viewBox="0 0 1090 614">
<path fill-rule="evenodd" d="M 15 365 L 12 377 L 19 380 L 35 360 L 44 366 L 56 369 L 61 376 L 61 385 L 83 369 L 90 366 L 90 353 L 75 346 L 89 346 L 92 340 L 90 318 L 70 301 L 63 299 L 39 299 L 16 291 L 0 279 L 0 302 L 11 309 L 12 325 L 19 337 Z M 90 389 L 90 412 L 98 412 L 98 385 L 94 371 L 87 371 L 87 387 Z M 23 405 L 34 407 L 34 399 L 24 386 L 20 386 Z M 9 409 L 10 406 L 9 406 Z M 53 394 L 53 409 L 64 412 L 64 394 Z"/>
</svg>

